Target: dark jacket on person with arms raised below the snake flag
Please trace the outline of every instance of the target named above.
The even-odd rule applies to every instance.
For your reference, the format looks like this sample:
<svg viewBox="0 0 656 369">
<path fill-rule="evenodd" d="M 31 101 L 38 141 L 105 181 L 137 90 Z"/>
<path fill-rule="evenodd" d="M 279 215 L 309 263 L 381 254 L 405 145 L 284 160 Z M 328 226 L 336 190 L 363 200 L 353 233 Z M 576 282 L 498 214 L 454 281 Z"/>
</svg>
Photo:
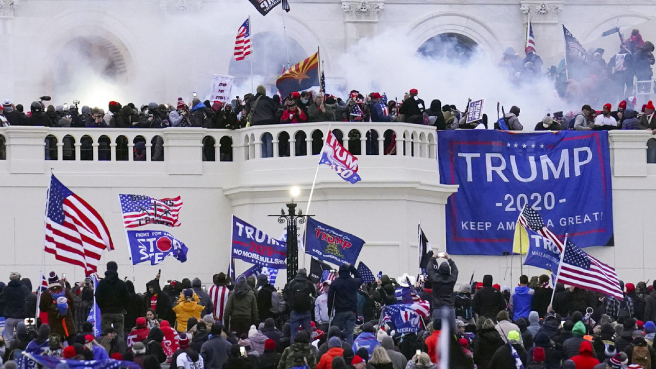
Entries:
<svg viewBox="0 0 656 369">
<path fill-rule="evenodd" d="M 353 276 L 351 276 L 353 273 Z M 358 288 L 362 285 L 362 278 L 353 265 L 341 265 L 339 276 L 333 280 L 328 290 L 328 313 L 343 313 L 358 311 Z"/>
</svg>

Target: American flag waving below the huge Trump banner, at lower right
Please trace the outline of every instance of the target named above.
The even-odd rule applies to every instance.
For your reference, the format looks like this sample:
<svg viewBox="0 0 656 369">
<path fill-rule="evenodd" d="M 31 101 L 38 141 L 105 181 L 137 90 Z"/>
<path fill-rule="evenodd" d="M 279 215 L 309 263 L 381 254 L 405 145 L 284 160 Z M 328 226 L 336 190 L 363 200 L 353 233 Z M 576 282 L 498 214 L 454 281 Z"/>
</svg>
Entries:
<svg viewBox="0 0 656 369">
<path fill-rule="evenodd" d="M 556 277 L 558 282 L 624 299 L 614 268 L 588 255 L 569 240 L 564 249 L 565 255 Z"/>
</svg>

